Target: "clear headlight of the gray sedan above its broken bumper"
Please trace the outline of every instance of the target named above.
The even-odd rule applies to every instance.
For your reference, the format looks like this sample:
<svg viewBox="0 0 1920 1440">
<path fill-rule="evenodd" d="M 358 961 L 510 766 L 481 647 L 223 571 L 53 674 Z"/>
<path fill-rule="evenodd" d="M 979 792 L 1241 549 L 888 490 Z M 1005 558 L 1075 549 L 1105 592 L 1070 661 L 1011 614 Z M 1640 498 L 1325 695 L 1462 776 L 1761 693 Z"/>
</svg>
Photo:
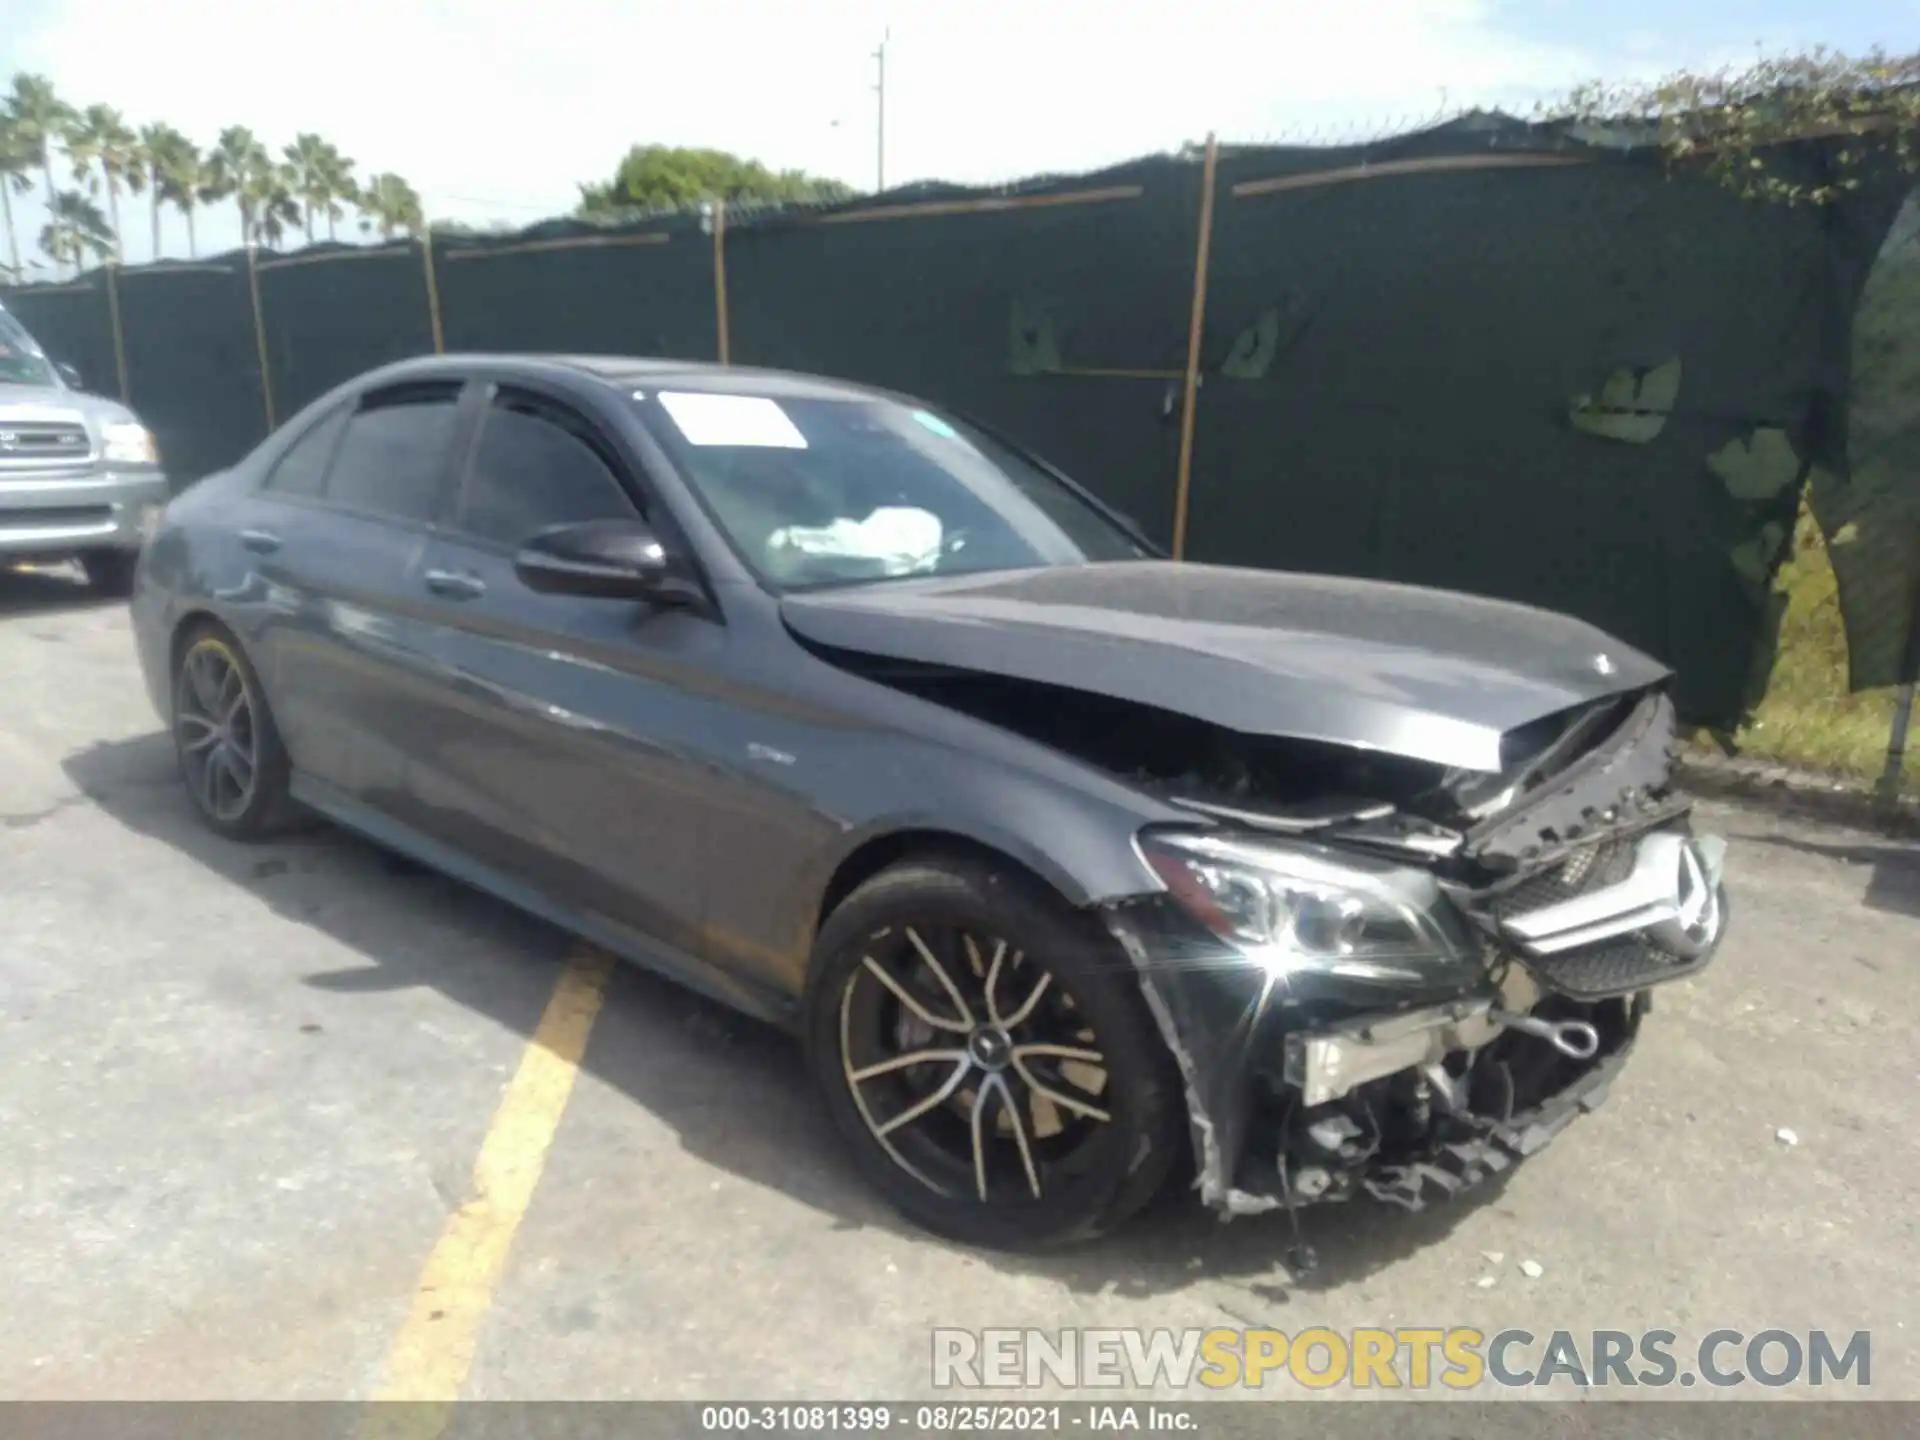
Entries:
<svg viewBox="0 0 1920 1440">
<path fill-rule="evenodd" d="M 1438 889 L 1425 876 L 1181 831 L 1140 835 L 1140 854 L 1194 920 L 1271 970 L 1419 979 L 1409 962 L 1467 958 L 1427 906 Z"/>
</svg>

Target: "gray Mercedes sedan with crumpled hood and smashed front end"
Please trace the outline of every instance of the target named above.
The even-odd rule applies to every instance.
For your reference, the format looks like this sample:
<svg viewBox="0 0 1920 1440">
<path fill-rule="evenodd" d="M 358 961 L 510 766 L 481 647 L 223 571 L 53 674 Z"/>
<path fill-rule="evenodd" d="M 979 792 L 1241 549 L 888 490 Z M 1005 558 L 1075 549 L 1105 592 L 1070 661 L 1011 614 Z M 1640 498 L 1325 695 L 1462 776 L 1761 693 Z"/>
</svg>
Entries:
<svg viewBox="0 0 1920 1440">
<path fill-rule="evenodd" d="M 213 829 L 319 812 L 791 1027 L 972 1242 L 1498 1175 L 1724 929 L 1655 660 L 1162 559 L 833 380 L 365 374 L 167 507 L 132 616 Z"/>
</svg>

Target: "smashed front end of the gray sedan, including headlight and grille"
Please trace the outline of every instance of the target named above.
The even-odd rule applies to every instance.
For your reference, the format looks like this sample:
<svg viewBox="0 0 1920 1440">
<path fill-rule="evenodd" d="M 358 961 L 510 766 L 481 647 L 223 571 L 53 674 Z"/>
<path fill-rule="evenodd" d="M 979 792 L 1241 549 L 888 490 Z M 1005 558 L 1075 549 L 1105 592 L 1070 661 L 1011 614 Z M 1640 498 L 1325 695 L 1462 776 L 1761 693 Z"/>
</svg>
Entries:
<svg viewBox="0 0 1920 1440">
<path fill-rule="evenodd" d="M 1724 845 L 1668 789 L 1663 689 L 1509 739 L 1498 774 L 1400 770 L 1359 801 L 1171 781 L 1196 826 L 1139 839 L 1165 889 L 1104 918 L 1210 1206 L 1419 1210 L 1500 1175 L 1601 1102 L 1649 991 L 1713 956 Z"/>
</svg>

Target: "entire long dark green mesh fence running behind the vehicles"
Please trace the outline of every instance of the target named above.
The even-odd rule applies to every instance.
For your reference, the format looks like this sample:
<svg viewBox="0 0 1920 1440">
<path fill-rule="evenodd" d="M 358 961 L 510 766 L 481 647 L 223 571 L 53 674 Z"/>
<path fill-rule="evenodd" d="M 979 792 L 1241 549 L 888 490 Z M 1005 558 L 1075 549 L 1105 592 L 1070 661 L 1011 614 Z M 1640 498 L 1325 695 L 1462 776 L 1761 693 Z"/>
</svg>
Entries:
<svg viewBox="0 0 1920 1440">
<path fill-rule="evenodd" d="M 417 242 L 259 253 L 257 317 L 244 255 L 123 271 L 129 388 L 190 480 L 263 432 L 255 319 L 284 420 L 432 351 L 436 300 L 445 349 L 716 359 L 724 290 L 732 363 L 925 396 L 1165 541 L 1202 180 L 1188 154 L 733 207 L 722 244 L 685 213 L 436 234 L 432 288 Z M 1903 192 L 1745 204 L 1603 134 L 1501 117 L 1221 150 L 1188 557 L 1569 611 L 1674 664 L 1688 718 L 1732 726 L 1764 676 L 1770 578 L 1811 474 L 1855 682 L 1885 684 L 1920 568 L 1910 238 L 1874 273 L 1857 346 L 1851 321 Z M 113 392 L 104 284 L 8 303 Z"/>
</svg>

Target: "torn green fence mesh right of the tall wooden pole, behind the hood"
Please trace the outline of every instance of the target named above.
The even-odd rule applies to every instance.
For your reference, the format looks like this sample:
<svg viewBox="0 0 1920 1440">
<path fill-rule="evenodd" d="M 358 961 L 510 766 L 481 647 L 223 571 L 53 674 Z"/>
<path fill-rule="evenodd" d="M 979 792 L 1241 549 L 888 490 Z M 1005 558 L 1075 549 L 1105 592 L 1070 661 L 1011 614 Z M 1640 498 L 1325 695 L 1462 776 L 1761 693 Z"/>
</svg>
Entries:
<svg viewBox="0 0 1920 1440">
<path fill-rule="evenodd" d="M 1578 154 L 1263 188 L 1296 159 L 1221 161 L 1190 553 L 1571 611 L 1734 714 L 1770 632 L 1738 551 L 1795 492 L 1707 461 L 1811 426 L 1820 217 Z"/>
</svg>

